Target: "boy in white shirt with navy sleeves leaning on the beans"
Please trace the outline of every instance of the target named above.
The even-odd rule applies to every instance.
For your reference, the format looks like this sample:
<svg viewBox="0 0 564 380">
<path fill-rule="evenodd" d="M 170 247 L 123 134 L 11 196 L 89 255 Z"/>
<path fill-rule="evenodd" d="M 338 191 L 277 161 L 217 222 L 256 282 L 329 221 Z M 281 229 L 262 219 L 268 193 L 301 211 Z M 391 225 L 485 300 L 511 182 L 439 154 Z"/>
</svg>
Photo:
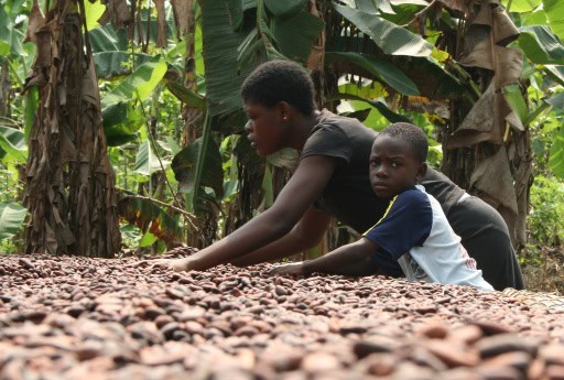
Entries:
<svg viewBox="0 0 564 380">
<path fill-rule="evenodd" d="M 425 133 L 413 124 L 394 123 L 384 129 L 373 142 L 369 172 L 376 195 L 390 199 L 384 216 L 359 241 L 272 272 L 340 273 L 340 268 L 369 259 L 384 272 L 397 261 L 410 281 L 494 290 L 460 245 L 438 202 L 416 185 L 427 170 L 427 149 Z"/>
</svg>

